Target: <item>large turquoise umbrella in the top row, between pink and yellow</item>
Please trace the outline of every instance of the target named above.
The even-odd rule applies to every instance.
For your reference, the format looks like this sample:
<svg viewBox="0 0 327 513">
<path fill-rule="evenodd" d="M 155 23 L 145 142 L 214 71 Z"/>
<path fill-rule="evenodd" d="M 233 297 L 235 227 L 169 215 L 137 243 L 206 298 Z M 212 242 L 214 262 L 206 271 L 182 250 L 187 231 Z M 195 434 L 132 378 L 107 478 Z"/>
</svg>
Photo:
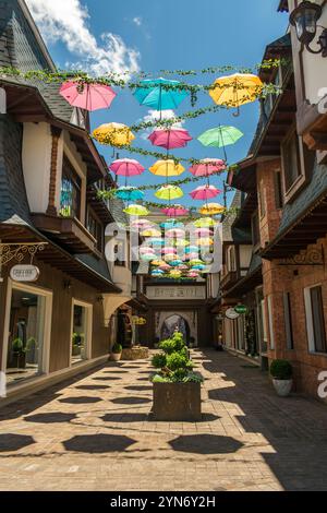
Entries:
<svg viewBox="0 0 327 513">
<path fill-rule="evenodd" d="M 134 96 L 140 105 L 146 105 L 154 110 L 175 109 L 187 96 L 184 90 L 178 87 L 179 84 L 177 80 L 142 80 Z"/>
</svg>

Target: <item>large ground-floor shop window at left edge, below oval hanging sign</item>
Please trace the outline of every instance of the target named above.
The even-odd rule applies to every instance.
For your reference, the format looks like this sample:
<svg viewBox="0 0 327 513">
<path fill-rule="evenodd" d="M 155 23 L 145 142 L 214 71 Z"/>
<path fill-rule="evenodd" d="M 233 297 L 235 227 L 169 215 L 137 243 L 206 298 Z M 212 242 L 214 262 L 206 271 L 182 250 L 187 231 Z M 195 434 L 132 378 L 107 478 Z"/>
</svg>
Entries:
<svg viewBox="0 0 327 513">
<path fill-rule="evenodd" d="M 5 359 L 9 384 L 47 372 L 50 326 L 51 294 L 13 287 Z"/>
</svg>

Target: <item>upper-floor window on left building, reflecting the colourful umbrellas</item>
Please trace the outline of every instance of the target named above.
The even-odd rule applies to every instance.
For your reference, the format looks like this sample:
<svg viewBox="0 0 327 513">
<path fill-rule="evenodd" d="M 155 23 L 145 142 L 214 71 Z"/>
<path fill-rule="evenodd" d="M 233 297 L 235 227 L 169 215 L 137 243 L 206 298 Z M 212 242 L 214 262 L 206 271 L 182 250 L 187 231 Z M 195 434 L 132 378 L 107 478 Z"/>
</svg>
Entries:
<svg viewBox="0 0 327 513">
<path fill-rule="evenodd" d="M 62 164 L 60 215 L 63 217 L 81 217 L 82 180 L 64 156 Z"/>
</svg>

